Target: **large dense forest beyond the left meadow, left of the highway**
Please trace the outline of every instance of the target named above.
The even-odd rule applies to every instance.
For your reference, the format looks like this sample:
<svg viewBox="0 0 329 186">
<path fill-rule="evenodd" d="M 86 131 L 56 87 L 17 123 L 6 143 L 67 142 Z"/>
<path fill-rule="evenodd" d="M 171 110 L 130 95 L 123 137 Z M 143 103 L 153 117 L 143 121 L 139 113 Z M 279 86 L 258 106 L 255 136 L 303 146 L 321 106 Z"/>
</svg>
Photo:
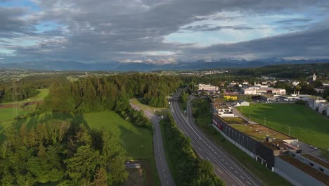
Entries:
<svg viewBox="0 0 329 186">
<path fill-rule="evenodd" d="M 76 82 L 52 84 L 44 107 L 50 111 L 79 113 L 110 109 L 136 125 L 150 128 L 150 121 L 131 109 L 129 99 L 143 97 L 146 104 L 167 106 L 165 95 L 174 92 L 179 84 L 179 77 L 152 74 L 86 77 Z"/>
</svg>

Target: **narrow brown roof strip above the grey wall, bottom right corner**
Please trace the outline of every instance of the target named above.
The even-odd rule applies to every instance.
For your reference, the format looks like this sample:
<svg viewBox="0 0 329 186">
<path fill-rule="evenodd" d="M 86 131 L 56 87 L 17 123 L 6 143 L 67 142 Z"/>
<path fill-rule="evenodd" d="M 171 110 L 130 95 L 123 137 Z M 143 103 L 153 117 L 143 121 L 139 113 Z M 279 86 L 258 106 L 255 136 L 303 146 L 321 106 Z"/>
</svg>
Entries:
<svg viewBox="0 0 329 186">
<path fill-rule="evenodd" d="M 306 163 L 302 163 L 301 161 L 293 158 L 289 155 L 281 155 L 278 156 L 280 159 L 283 159 L 283 161 L 287 161 L 292 166 L 295 166 L 300 171 L 303 171 L 304 173 L 307 173 L 308 175 L 311 175 L 313 178 L 316 178 L 316 180 L 320 180 L 325 185 L 329 185 L 329 176 L 325 175 L 324 173 L 321 173 L 320 171 L 317 171 L 315 168 L 311 168 L 311 166 L 307 165 Z"/>
</svg>

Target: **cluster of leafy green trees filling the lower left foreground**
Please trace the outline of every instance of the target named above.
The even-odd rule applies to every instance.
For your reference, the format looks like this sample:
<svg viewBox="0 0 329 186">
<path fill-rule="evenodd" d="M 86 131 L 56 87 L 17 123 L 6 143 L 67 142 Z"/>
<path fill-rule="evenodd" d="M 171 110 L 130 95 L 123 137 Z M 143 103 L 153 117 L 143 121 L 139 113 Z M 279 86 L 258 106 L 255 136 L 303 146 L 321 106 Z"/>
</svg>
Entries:
<svg viewBox="0 0 329 186">
<path fill-rule="evenodd" d="M 1 185 L 120 185 L 127 180 L 117 137 L 70 120 L 9 128 L 0 153 Z"/>
</svg>

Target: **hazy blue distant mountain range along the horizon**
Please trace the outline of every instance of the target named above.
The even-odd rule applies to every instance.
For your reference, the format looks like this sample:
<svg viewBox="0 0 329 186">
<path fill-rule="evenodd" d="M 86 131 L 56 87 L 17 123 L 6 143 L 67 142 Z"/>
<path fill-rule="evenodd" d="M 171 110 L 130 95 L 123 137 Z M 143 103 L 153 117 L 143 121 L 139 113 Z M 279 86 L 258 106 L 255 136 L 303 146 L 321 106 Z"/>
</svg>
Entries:
<svg viewBox="0 0 329 186">
<path fill-rule="evenodd" d="M 110 71 L 153 71 L 153 70 L 201 70 L 209 68 L 253 68 L 280 64 L 329 63 L 329 59 L 316 60 L 285 60 L 269 58 L 257 61 L 221 59 L 219 61 L 194 61 L 157 65 L 152 63 L 81 63 L 77 61 L 44 61 L 26 63 L 0 63 L 0 68 L 28 68 L 35 70 L 110 70 Z"/>
</svg>

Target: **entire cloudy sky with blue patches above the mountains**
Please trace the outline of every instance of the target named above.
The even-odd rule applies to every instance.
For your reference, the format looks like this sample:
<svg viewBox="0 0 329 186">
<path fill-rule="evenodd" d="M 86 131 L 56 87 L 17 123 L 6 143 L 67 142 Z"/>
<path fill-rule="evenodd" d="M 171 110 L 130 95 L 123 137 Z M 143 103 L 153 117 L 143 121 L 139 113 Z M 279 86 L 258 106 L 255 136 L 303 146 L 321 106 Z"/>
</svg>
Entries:
<svg viewBox="0 0 329 186">
<path fill-rule="evenodd" d="M 328 0 L 0 0 L 0 63 L 329 58 Z"/>
</svg>

